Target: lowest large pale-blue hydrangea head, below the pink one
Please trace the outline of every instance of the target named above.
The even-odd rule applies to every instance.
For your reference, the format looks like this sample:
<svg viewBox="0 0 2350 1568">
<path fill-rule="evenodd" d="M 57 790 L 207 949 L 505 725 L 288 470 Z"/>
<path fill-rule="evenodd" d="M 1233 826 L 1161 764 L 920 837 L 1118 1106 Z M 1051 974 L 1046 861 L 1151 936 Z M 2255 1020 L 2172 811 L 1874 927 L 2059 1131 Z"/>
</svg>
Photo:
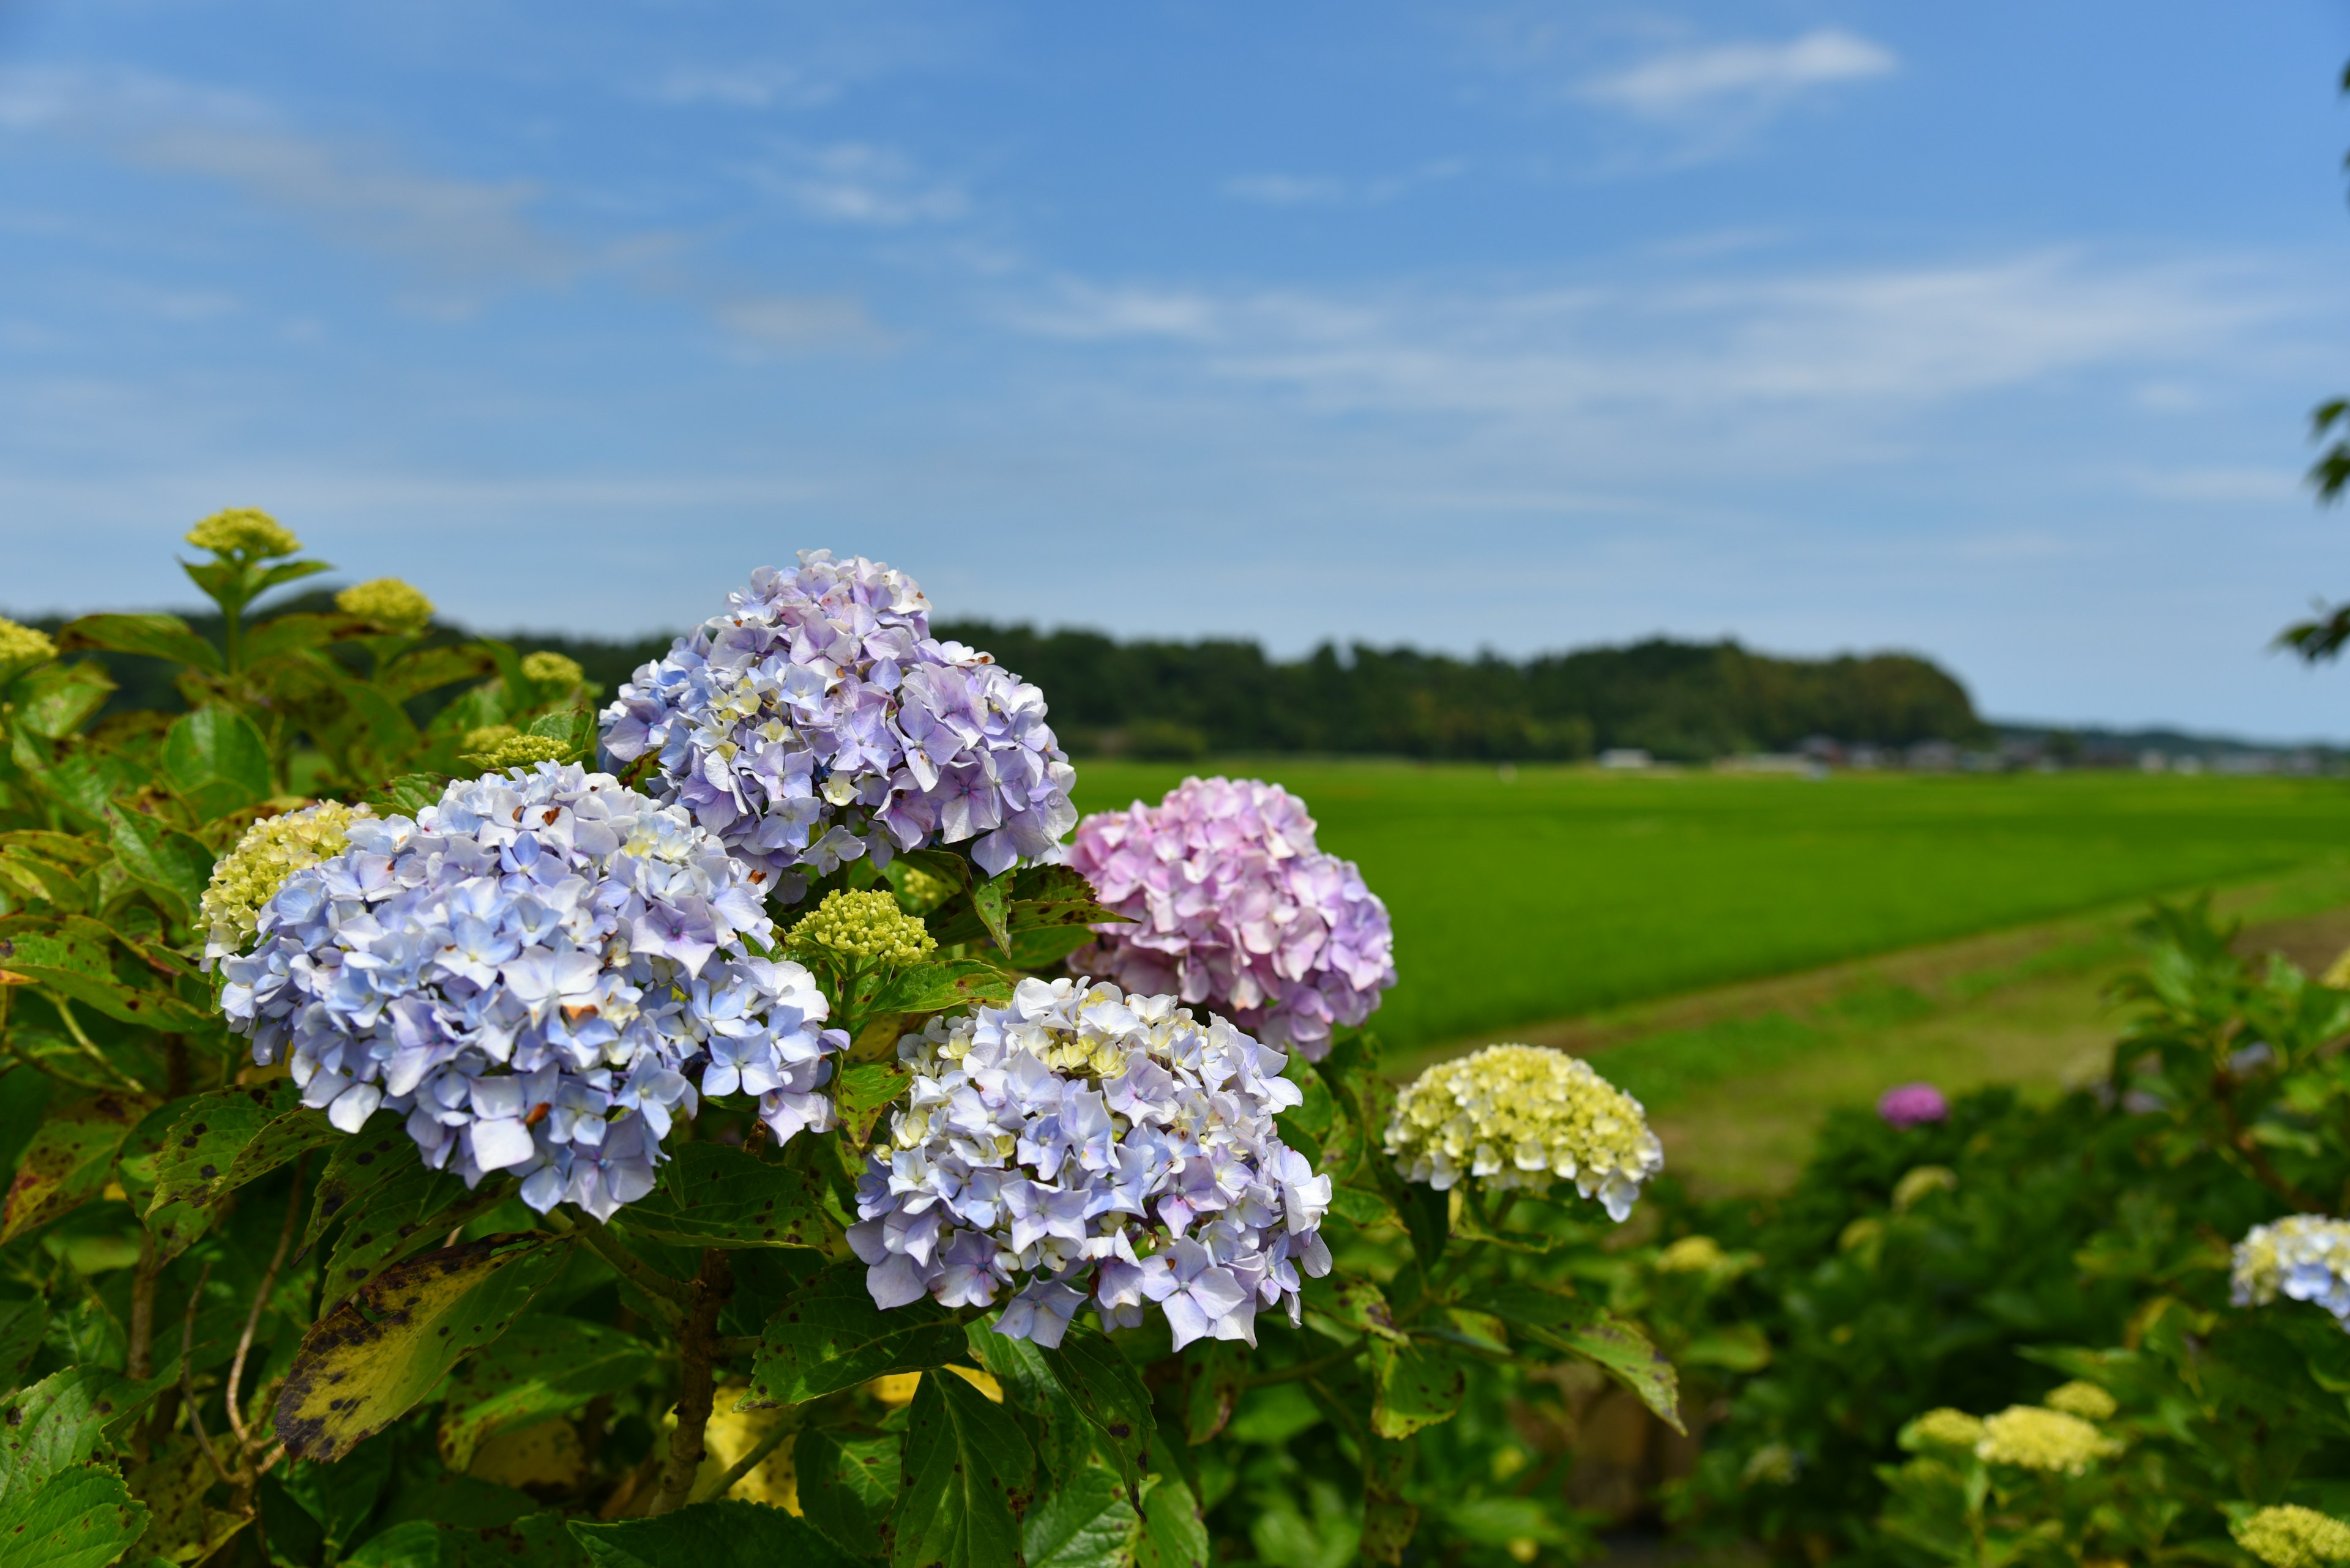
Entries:
<svg viewBox="0 0 2350 1568">
<path fill-rule="evenodd" d="M 1281 1143 L 1288 1058 L 1175 997 L 1027 978 L 1010 1006 L 933 1018 L 886 1152 L 858 1180 L 848 1246 L 881 1307 L 924 1293 L 987 1307 L 996 1333 L 1060 1345 L 1090 1298 L 1102 1328 L 1156 1305 L 1175 1347 L 1257 1342 L 1257 1307 L 1300 1316 L 1330 1272 L 1330 1178 Z"/>
</svg>

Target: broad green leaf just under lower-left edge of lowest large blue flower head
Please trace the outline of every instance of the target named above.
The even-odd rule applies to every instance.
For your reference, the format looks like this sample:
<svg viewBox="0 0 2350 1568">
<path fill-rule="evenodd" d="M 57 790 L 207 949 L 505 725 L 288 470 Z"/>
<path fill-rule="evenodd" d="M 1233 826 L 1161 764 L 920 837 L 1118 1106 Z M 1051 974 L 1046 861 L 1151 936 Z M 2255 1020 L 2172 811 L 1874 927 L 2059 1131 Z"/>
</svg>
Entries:
<svg viewBox="0 0 2350 1568">
<path fill-rule="evenodd" d="M 886 1373 L 919 1373 L 966 1352 L 964 1326 L 921 1298 L 884 1312 L 865 1291 L 865 1265 L 844 1258 L 783 1298 L 766 1319 L 745 1408 L 797 1406 Z M 940 1382 L 924 1378 L 924 1387 Z"/>
</svg>

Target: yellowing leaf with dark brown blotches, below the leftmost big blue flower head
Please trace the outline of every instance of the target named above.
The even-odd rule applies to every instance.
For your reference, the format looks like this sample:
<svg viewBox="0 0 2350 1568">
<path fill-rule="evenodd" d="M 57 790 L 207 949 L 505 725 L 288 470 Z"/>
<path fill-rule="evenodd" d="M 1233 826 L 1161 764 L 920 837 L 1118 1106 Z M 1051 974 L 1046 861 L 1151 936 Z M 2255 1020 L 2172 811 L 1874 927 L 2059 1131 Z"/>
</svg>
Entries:
<svg viewBox="0 0 2350 1568">
<path fill-rule="evenodd" d="M 303 1335 L 277 1439 L 298 1460 L 350 1453 L 416 1408 L 458 1356 L 496 1342 L 569 1255 L 569 1241 L 526 1232 L 392 1265 Z"/>
</svg>

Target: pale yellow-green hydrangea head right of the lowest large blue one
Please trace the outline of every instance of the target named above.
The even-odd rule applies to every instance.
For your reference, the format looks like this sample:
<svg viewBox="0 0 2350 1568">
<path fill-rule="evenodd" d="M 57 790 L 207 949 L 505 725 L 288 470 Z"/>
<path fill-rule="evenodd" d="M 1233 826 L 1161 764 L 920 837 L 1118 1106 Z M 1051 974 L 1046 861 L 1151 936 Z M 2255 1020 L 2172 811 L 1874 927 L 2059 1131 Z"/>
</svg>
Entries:
<svg viewBox="0 0 2350 1568">
<path fill-rule="evenodd" d="M 1422 1072 L 1396 1095 L 1386 1154 L 1438 1192 L 1462 1178 L 1532 1192 L 1572 1180 L 1617 1222 L 1664 1168 L 1638 1100 L 1579 1056 L 1539 1046 L 1485 1046 Z"/>
</svg>

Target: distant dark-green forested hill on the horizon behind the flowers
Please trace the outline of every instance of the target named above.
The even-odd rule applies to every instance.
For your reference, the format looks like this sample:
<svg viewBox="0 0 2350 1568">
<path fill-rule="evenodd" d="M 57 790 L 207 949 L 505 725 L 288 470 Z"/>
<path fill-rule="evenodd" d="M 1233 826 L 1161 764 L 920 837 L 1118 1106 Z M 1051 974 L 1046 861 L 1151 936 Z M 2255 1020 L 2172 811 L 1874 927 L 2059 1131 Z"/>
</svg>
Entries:
<svg viewBox="0 0 2350 1568">
<path fill-rule="evenodd" d="M 315 595 L 324 607 L 327 595 Z M 219 639 L 216 616 L 188 616 Z M 56 625 L 54 616 L 40 621 Z M 1544 759 L 1636 745 L 1704 759 L 1786 750 L 1805 736 L 1908 745 L 1976 743 L 1988 726 L 1967 689 L 1925 658 L 1772 658 L 1737 642 L 1650 639 L 1544 654 L 1523 663 L 1417 649 L 1323 644 L 1295 661 L 1255 642 L 1119 642 L 987 621 L 933 623 L 1043 686 L 1074 752 L 1356 752 L 1389 757 Z M 451 632 L 454 635 L 454 632 Z M 512 632 L 522 649 L 580 661 L 606 693 L 670 639 L 606 642 Z M 179 708 L 169 672 L 108 654 L 115 708 Z"/>
</svg>

